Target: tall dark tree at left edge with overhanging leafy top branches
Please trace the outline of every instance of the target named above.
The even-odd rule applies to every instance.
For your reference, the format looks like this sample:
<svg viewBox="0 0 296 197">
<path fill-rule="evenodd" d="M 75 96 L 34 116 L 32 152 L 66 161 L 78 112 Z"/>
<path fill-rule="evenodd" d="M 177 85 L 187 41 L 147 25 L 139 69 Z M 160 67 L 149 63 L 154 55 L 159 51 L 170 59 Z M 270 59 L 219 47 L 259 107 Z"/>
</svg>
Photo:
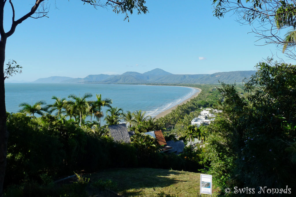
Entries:
<svg viewBox="0 0 296 197">
<path fill-rule="evenodd" d="M 6 154 L 7 154 L 7 141 L 8 141 L 8 131 L 6 126 L 6 107 L 5 107 L 5 87 L 4 87 L 4 61 L 5 61 L 5 47 L 7 38 L 11 36 L 15 30 L 17 25 L 20 25 L 23 21 L 32 18 L 42 18 L 46 17 L 49 10 L 44 6 L 45 0 L 36 0 L 33 4 L 32 8 L 28 10 L 28 13 L 16 19 L 16 10 L 14 8 L 14 4 L 12 0 L 0 0 L 0 196 L 2 196 L 3 191 L 3 181 L 5 174 L 5 166 L 6 166 Z M 101 2 L 99 0 L 81 0 L 84 4 L 89 4 L 97 7 L 111 7 L 113 12 L 116 14 L 123 13 L 126 14 L 125 19 L 128 19 L 128 13 L 132 14 L 134 10 L 136 10 L 137 14 L 148 12 L 147 7 L 145 6 L 144 0 L 119 0 L 112 1 L 107 0 Z M 11 8 L 12 15 L 12 24 L 8 31 L 4 30 L 4 7 L 8 6 Z M 7 9 L 5 9 L 7 10 Z M 36 14 L 36 15 L 34 15 Z M 9 25 L 8 25 L 9 26 Z M 8 27 L 7 26 L 7 27 Z"/>
</svg>

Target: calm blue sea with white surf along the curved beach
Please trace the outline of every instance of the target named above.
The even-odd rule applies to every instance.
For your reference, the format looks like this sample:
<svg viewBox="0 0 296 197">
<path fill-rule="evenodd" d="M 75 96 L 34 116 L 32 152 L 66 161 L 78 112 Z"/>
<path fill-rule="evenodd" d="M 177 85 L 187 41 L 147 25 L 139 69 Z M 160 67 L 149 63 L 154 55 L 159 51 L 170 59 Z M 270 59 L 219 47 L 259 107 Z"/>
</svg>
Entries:
<svg viewBox="0 0 296 197">
<path fill-rule="evenodd" d="M 6 110 L 16 113 L 22 102 L 34 104 L 44 100 L 53 103 L 52 96 L 68 97 L 70 94 L 83 96 L 86 92 L 94 96 L 101 94 L 102 98 L 111 98 L 113 107 L 122 108 L 124 112 L 146 111 L 152 117 L 191 97 L 198 90 L 176 86 L 148 86 L 123 84 L 36 84 L 7 83 L 5 84 Z M 107 108 L 103 109 L 104 113 Z"/>
</svg>

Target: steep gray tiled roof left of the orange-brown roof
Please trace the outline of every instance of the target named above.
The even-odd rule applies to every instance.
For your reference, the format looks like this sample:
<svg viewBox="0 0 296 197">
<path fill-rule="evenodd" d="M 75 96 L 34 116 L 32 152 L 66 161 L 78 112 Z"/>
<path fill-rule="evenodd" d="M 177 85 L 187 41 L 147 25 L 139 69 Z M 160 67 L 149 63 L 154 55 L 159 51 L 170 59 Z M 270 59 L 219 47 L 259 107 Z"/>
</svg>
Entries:
<svg viewBox="0 0 296 197">
<path fill-rule="evenodd" d="M 130 143 L 131 139 L 128 135 L 126 124 L 110 125 L 108 126 L 110 135 L 114 141 Z"/>
</svg>

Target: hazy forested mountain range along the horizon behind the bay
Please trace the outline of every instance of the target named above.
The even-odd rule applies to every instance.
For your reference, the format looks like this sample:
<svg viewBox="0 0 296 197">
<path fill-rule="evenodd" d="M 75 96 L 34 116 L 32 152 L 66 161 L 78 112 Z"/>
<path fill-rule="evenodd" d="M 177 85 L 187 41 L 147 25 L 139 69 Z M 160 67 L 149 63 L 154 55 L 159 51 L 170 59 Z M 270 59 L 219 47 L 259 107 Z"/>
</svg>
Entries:
<svg viewBox="0 0 296 197">
<path fill-rule="evenodd" d="M 48 77 L 34 81 L 35 83 L 102 83 L 102 84 L 145 84 L 145 83 L 225 83 L 242 82 L 250 78 L 256 71 L 231 71 L 214 74 L 171 74 L 162 69 L 153 69 L 143 74 L 125 72 L 121 75 L 97 74 L 85 78 Z M 57 80 L 54 80 L 57 79 Z"/>
</svg>

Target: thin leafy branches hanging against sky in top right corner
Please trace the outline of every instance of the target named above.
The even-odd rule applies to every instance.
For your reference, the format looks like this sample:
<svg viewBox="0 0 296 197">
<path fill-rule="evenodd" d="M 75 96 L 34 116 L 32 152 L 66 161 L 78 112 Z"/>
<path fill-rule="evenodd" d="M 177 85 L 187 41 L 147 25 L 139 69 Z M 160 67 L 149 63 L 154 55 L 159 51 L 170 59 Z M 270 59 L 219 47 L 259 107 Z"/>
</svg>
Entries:
<svg viewBox="0 0 296 197">
<path fill-rule="evenodd" d="M 253 25 L 259 40 L 276 44 L 288 57 L 296 59 L 295 0 L 213 0 L 213 4 L 216 17 L 227 12 L 237 15 L 240 23 Z"/>
</svg>

